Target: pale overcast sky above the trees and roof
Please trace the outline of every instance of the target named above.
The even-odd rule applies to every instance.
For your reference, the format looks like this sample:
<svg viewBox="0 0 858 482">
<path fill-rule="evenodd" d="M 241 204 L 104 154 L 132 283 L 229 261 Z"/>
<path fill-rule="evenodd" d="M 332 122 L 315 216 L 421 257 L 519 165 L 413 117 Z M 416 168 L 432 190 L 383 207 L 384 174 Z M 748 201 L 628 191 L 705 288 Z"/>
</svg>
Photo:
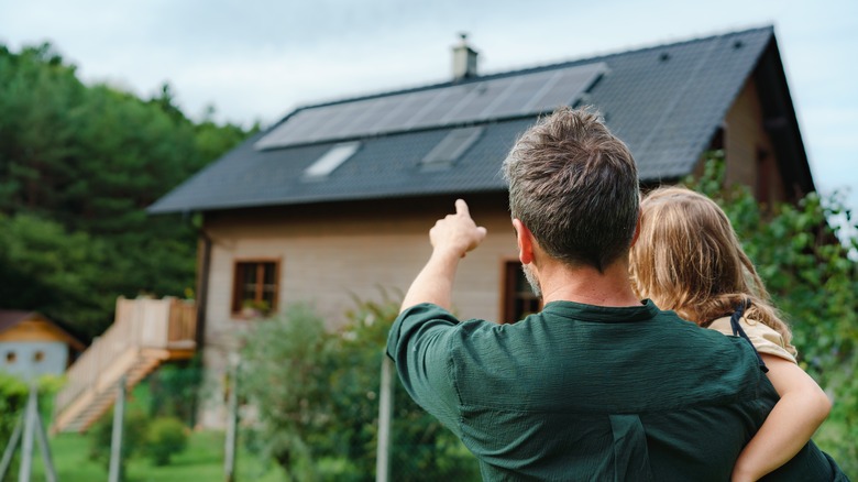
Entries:
<svg viewBox="0 0 858 482">
<path fill-rule="evenodd" d="M 774 25 L 814 180 L 858 207 L 857 0 L 0 0 L 0 43 L 50 41 L 88 83 L 194 118 L 275 122 L 320 100 Z"/>
</svg>

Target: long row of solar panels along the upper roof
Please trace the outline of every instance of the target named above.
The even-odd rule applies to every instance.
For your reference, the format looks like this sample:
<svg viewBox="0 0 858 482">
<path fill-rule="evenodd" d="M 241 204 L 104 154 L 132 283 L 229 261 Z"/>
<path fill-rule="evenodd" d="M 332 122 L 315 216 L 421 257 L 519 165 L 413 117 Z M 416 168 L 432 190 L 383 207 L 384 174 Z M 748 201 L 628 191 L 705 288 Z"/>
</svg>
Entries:
<svg viewBox="0 0 858 482">
<path fill-rule="evenodd" d="M 310 107 L 293 114 L 254 146 L 276 149 L 535 116 L 572 105 L 605 72 L 605 63 L 595 63 Z"/>
</svg>

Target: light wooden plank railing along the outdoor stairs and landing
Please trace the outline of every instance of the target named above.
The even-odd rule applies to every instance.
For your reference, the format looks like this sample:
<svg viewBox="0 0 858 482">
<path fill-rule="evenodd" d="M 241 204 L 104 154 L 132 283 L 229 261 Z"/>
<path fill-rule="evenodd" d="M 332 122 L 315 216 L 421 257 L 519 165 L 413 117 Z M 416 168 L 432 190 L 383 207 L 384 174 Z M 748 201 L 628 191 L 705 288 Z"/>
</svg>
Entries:
<svg viewBox="0 0 858 482">
<path fill-rule="evenodd" d="M 163 299 L 117 299 L 113 325 L 66 371 L 66 384 L 54 402 L 61 414 L 84 395 L 112 386 L 131 365 L 129 358 L 141 349 L 179 350 L 196 347 L 197 308 L 193 302 Z"/>
</svg>

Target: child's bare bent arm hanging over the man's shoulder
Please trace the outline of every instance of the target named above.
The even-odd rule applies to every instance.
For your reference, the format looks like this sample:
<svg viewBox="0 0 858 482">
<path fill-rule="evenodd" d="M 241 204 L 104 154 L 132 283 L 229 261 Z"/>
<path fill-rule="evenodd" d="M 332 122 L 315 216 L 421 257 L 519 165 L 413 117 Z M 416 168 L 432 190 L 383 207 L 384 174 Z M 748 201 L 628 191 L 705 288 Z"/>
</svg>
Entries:
<svg viewBox="0 0 858 482">
<path fill-rule="evenodd" d="M 767 353 L 760 357 L 781 399 L 736 460 L 733 482 L 756 481 L 787 463 L 832 409 L 828 396 L 799 365 Z"/>
</svg>

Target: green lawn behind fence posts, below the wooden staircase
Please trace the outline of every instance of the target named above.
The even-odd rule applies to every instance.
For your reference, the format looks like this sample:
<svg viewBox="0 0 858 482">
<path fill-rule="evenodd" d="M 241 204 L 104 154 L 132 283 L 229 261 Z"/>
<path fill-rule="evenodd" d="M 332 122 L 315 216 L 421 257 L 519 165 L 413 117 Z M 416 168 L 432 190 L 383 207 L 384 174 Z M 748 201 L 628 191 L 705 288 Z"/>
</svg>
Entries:
<svg viewBox="0 0 858 482">
<path fill-rule="evenodd" d="M 221 481 L 223 476 L 223 432 L 195 431 L 186 451 L 176 454 L 169 465 L 155 467 L 143 457 L 129 460 L 128 482 L 194 482 Z M 57 479 L 62 482 L 107 481 L 105 464 L 89 460 L 89 436 L 59 434 L 50 440 L 51 456 Z M 33 481 L 45 480 L 44 463 L 35 448 Z M 241 447 L 237 458 L 237 481 L 275 482 L 285 480 L 282 470 L 272 462 L 248 453 Z"/>
</svg>

